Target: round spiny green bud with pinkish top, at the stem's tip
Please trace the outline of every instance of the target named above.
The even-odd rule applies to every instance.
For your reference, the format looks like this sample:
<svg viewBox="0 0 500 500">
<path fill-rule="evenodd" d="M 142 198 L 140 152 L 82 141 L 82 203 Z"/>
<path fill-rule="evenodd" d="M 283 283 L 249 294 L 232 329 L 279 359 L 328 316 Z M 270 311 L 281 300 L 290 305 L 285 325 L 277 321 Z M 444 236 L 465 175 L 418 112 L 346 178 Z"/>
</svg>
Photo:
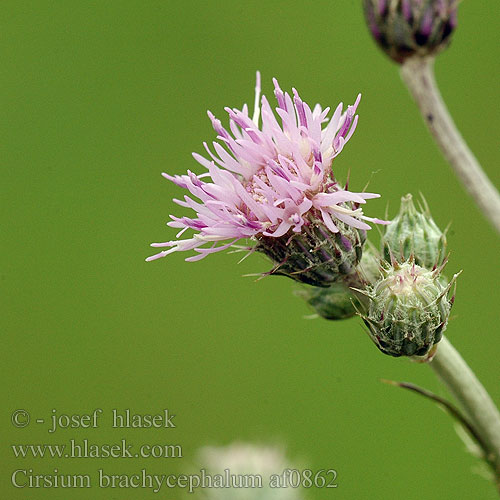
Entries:
<svg viewBox="0 0 500 500">
<path fill-rule="evenodd" d="M 429 271 L 409 260 L 382 269 L 383 277 L 365 291 L 370 303 L 361 314 L 375 345 L 391 356 L 425 356 L 442 337 L 454 296 L 442 283 L 442 267 Z"/>
</svg>

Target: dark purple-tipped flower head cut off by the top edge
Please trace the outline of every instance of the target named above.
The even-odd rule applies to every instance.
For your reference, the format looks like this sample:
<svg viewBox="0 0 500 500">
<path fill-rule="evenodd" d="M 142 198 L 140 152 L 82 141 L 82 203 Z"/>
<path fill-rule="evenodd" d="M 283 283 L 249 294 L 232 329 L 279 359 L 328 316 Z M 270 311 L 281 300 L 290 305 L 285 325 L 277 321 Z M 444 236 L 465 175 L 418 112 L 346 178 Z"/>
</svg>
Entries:
<svg viewBox="0 0 500 500">
<path fill-rule="evenodd" d="M 363 0 L 378 45 L 398 63 L 445 48 L 457 24 L 458 0 Z"/>
</svg>

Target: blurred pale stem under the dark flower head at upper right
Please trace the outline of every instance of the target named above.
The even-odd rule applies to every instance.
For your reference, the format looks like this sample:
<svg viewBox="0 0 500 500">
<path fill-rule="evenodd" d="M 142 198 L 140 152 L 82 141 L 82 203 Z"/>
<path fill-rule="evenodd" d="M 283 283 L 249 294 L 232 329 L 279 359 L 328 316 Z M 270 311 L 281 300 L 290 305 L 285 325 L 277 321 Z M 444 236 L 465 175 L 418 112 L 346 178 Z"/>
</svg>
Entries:
<svg viewBox="0 0 500 500">
<path fill-rule="evenodd" d="M 408 58 L 401 65 L 401 77 L 444 156 L 484 215 L 500 233 L 500 195 L 446 109 L 434 78 L 434 57 Z"/>
</svg>

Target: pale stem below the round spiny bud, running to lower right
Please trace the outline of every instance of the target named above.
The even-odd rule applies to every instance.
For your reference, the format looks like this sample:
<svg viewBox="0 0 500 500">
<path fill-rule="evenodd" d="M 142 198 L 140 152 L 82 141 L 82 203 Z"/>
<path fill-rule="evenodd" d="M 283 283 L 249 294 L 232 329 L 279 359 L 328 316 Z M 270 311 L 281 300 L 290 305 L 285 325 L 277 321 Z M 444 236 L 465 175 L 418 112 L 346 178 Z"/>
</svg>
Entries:
<svg viewBox="0 0 500 500">
<path fill-rule="evenodd" d="M 487 447 L 488 461 L 496 466 L 500 481 L 500 413 L 486 389 L 446 337 L 429 363 L 460 403 L 471 425 Z"/>
</svg>

